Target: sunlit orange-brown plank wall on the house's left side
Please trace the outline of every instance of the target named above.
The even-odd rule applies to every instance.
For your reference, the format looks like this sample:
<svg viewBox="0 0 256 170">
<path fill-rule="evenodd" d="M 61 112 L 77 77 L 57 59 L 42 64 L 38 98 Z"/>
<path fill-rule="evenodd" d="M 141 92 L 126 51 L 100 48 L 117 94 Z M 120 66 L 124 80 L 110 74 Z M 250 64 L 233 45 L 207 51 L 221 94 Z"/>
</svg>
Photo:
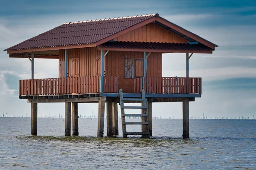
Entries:
<svg viewBox="0 0 256 170">
<path fill-rule="evenodd" d="M 67 76 L 70 77 L 71 73 L 71 59 L 79 57 L 79 77 L 95 76 L 96 75 L 96 56 L 101 55 L 96 47 L 89 48 L 74 48 L 68 49 L 68 71 Z M 64 61 L 65 50 L 59 50 L 59 77 L 63 77 L 61 72 L 65 70 Z"/>
</svg>

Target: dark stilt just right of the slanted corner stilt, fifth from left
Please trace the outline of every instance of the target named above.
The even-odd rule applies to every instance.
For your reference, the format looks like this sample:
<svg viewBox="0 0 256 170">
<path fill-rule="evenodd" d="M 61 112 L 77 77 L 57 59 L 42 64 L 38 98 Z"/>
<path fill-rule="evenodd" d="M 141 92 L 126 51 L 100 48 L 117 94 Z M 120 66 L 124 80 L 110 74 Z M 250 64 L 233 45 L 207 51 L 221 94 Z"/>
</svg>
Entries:
<svg viewBox="0 0 256 170">
<path fill-rule="evenodd" d="M 112 98 L 107 99 L 107 136 L 113 137 Z"/>
</svg>

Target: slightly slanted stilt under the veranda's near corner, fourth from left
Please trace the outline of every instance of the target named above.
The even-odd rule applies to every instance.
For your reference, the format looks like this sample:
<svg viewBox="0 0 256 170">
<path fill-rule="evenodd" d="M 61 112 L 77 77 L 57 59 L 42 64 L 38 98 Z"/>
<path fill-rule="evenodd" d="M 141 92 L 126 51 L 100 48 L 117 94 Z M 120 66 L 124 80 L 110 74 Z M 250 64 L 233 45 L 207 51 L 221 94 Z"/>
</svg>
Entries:
<svg viewBox="0 0 256 170">
<path fill-rule="evenodd" d="M 99 113 L 98 113 L 98 137 L 103 137 L 104 134 L 104 112 L 105 101 L 99 101 Z"/>
</svg>

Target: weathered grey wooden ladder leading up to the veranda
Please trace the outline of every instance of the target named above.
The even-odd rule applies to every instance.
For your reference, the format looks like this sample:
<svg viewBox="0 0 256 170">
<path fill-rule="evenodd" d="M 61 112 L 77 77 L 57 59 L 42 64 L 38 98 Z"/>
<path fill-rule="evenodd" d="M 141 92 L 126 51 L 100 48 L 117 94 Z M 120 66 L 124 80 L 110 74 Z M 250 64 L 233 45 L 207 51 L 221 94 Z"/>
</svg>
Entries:
<svg viewBox="0 0 256 170">
<path fill-rule="evenodd" d="M 141 90 L 140 98 L 123 98 L 122 88 L 119 90 L 121 116 L 122 116 L 122 132 L 123 137 L 127 138 L 128 135 L 141 135 L 143 138 L 149 138 L 149 128 L 148 128 L 148 105 L 147 99 L 145 97 L 145 90 Z M 124 106 L 124 101 L 141 102 L 141 106 Z M 142 114 L 125 114 L 125 109 L 141 109 Z M 141 122 L 125 122 L 125 117 L 141 117 Z M 126 125 L 142 125 L 141 132 L 126 132 Z"/>
</svg>

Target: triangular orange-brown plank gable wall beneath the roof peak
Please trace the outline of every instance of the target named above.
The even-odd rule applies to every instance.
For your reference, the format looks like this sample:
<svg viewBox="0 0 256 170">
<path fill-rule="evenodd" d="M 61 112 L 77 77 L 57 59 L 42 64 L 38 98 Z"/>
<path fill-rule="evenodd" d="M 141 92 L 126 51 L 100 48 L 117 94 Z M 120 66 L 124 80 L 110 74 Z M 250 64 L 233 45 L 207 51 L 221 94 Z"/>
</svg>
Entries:
<svg viewBox="0 0 256 170">
<path fill-rule="evenodd" d="M 149 23 L 145 26 L 132 30 L 114 38 L 114 41 L 187 43 L 185 38 L 168 31 L 157 23 Z"/>
</svg>

